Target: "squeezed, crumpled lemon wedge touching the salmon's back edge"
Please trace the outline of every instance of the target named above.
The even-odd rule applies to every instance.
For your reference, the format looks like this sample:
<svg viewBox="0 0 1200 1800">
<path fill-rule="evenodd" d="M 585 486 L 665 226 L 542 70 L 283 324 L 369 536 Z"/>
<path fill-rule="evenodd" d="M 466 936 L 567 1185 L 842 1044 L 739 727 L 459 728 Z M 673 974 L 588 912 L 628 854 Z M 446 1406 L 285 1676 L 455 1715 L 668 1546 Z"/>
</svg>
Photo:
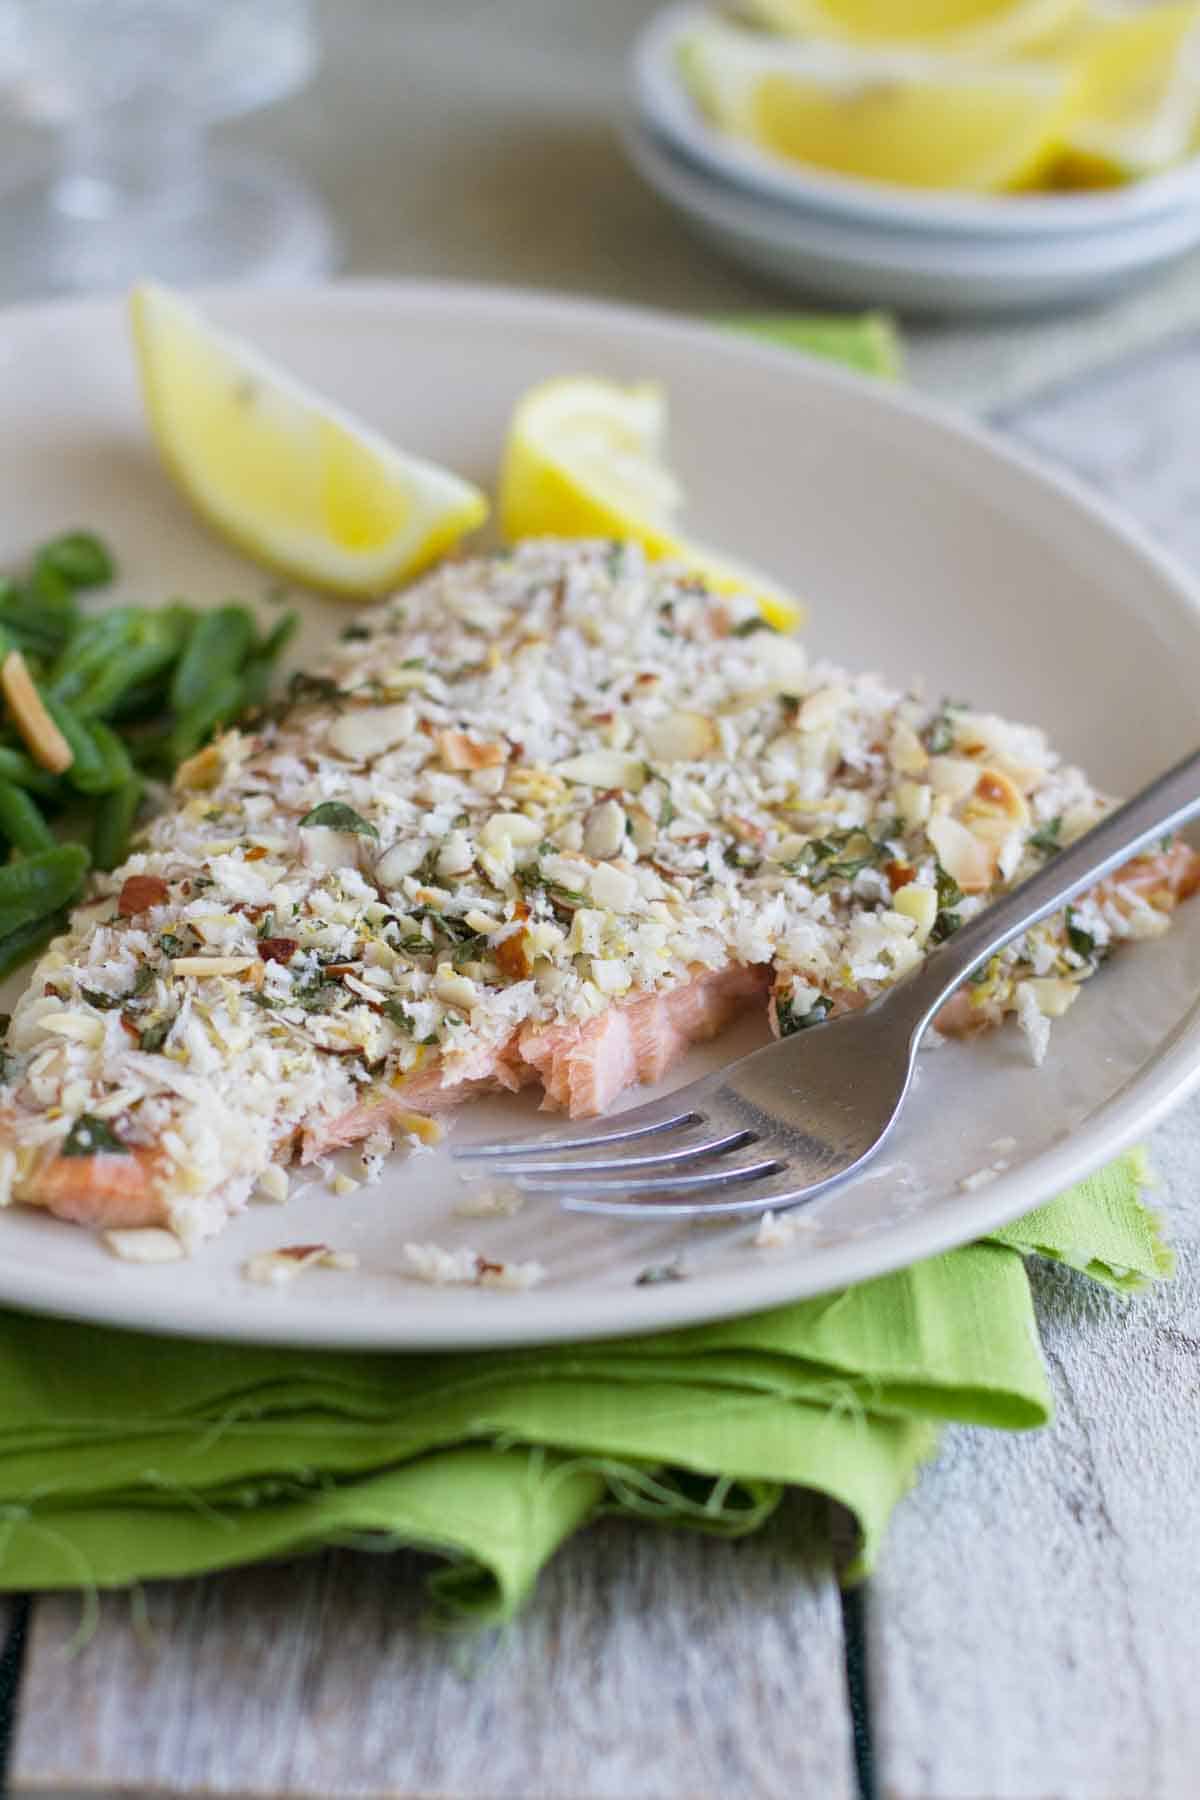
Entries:
<svg viewBox="0 0 1200 1800">
<path fill-rule="evenodd" d="M 682 562 L 718 594 L 747 594 L 792 632 L 804 608 L 765 576 L 676 531 L 682 490 L 666 463 L 667 405 L 657 382 L 622 387 L 560 376 L 516 405 L 500 468 L 506 538 L 628 538 Z"/>
</svg>

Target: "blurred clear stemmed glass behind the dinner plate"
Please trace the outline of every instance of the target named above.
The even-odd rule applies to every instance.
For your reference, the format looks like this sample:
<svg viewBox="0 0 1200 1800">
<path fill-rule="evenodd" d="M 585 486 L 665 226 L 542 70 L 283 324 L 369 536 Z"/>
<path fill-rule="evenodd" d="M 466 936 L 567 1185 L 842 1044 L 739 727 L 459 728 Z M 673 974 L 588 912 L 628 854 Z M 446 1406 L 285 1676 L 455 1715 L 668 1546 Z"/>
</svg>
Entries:
<svg viewBox="0 0 1200 1800">
<path fill-rule="evenodd" d="M 209 126 L 304 86 L 309 0 L 0 0 L 0 86 L 58 131 L 56 167 L 0 189 L 0 295 L 146 275 L 288 281 L 336 261 L 329 220 L 279 164 Z"/>
</svg>

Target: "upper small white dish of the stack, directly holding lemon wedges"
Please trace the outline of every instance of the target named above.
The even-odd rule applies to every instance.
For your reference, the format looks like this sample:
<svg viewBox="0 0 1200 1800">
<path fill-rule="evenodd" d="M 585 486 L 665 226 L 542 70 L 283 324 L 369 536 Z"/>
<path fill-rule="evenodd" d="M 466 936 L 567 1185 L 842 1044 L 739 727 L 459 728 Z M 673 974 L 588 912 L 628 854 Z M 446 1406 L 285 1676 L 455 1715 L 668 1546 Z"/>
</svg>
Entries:
<svg viewBox="0 0 1200 1800">
<path fill-rule="evenodd" d="M 1063 194 L 921 193 L 786 162 L 711 126 L 680 81 L 680 41 L 711 18 L 711 7 L 684 0 L 649 20 L 630 56 L 633 99 L 678 151 L 757 198 L 889 230 L 1009 239 L 1119 232 L 1200 202 L 1200 157 L 1128 187 Z"/>
</svg>

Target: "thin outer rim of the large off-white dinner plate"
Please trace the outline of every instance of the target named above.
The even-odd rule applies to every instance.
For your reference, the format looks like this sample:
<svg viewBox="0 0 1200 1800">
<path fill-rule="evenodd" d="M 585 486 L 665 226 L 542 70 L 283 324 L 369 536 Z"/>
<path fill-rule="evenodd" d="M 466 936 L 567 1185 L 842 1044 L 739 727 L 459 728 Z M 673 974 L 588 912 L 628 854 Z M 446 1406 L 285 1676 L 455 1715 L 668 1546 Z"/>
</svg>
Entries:
<svg viewBox="0 0 1200 1800">
<path fill-rule="evenodd" d="M 838 369 L 792 349 L 777 349 L 757 338 L 741 338 L 711 324 L 678 319 L 664 311 L 635 306 L 617 306 L 603 301 L 579 299 L 524 288 L 488 286 L 477 283 L 439 281 L 347 281 L 324 286 L 272 290 L 210 290 L 201 295 L 214 306 L 236 308 L 243 319 L 263 322 L 273 310 L 288 308 L 410 308 L 435 310 L 470 320 L 484 310 L 489 317 L 515 317 L 518 322 L 542 319 L 567 320 L 597 333 L 639 331 L 651 340 L 682 338 L 685 347 L 711 358 L 725 355 L 768 369 L 779 382 L 795 382 L 853 392 L 860 401 L 882 407 L 910 421 L 916 428 L 932 428 L 970 448 L 972 457 L 991 461 L 995 468 L 1034 488 L 1049 490 L 1074 515 L 1074 520 L 1115 540 L 1126 553 L 1146 563 L 1155 578 L 1155 605 L 1166 603 L 1186 630 L 1200 643 L 1200 583 L 1160 549 L 1119 509 L 1092 495 L 1070 473 L 1049 466 L 1025 448 L 1000 439 L 995 432 L 954 409 L 927 400 L 905 389 L 889 387 Z M 20 329 L 40 328 L 56 317 L 112 320 L 112 301 L 61 301 L 49 306 L 0 310 L 0 344 Z M 534 1289 L 516 1301 L 516 1296 L 477 1296 L 497 1305 L 477 1307 L 462 1314 L 446 1309 L 446 1319 L 425 1316 L 416 1328 L 405 1328 L 403 1309 L 394 1316 L 394 1328 L 383 1330 L 378 1318 L 356 1319 L 353 1309 L 329 1309 L 324 1316 L 306 1316 L 302 1323 L 290 1321 L 284 1310 L 248 1307 L 230 1316 L 228 1303 L 218 1294 L 200 1296 L 180 1318 L 176 1303 L 164 1298 L 155 1305 L 153 1285 L 139 1291 L 137 1310 L 128 1291 L 108 1292 L 103 1283 L 85 1283 L 79 1276 L 58 1271 L 40 1271 L 29 1265 L 9 1267 L 0 1258 L 0 1301 L 27 1310 L 90 1319 L 133 1330 L 157 1330 L 171 1336 L 218 1341 L 254 1341 L 273 1345 L 304 1345 L 309 1348 L 358 1350 L 468 1350 L 486 1346 L 518 1346 L 570 1339 L 621 1337 L 631 1332 L 664 1330 L 696 1325 L 711 1319 L 759 1312 L 808 1294 L 828 1292 L 851 1282 L 885 1274 L 925 1256 L 939 1255 L 959 1244 L 986 1237 L 990 1231 L 1063 1192 L 1074 1181 L 1108 1163 L 1148 1132 L 1171 1107 L 1200 1087 L 1200 999 L 1160 1042 L 1137 1075 L 1105 1102 L 1065 1141 L 1040 1152 L 1022 1168 L 999 1175 L 986 1186 L 963 1192 L 954 1204 L 937 1213 L 916 1213 L 891 1222 L 882 1233 L 873 1233 L 846 1244 L 824 1247 L 811 1262 L 757 1260 L 747 1278 L 698 1274 L 684 1283 L 658 1283 L 640 1289 L 637 1309 L 622 1289 L 587 1294 L 581 1303 L 578 1291 L 558 1294 L 554 1289 Z M 817 1278 L 811 1278 L 813 1267 Z M 153 1271 L 151 1271 L 153 1273 Z M 516 1303 L 515 1303 L 516 1301 Z M 389 1321 L 390 1323 L 390 1321 Z"/>
</svg>

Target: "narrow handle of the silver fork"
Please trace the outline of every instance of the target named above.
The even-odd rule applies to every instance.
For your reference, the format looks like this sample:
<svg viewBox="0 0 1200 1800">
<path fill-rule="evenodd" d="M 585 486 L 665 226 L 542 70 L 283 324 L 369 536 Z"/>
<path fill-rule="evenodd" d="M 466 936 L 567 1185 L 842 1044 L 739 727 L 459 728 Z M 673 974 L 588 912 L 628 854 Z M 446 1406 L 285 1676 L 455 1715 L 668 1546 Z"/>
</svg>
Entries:
<svg viewBox="0 0 1200 1800">
<path fill-rule="evenodd" d="M 939 1006 L 973 968 L 1049 913 L 1058 913 L 1081 889 L 1092 887 L 1121 864 L 1200 814 L 1200 751 L 1168 769 L 1150 787 L 1126 799 L 1045 868 L 1011 893 L 993 900 L 930 956 L 910 983 L 898 988 L 916 1003 L 914 1037 L 925 1031 Z"/>
</svg>

